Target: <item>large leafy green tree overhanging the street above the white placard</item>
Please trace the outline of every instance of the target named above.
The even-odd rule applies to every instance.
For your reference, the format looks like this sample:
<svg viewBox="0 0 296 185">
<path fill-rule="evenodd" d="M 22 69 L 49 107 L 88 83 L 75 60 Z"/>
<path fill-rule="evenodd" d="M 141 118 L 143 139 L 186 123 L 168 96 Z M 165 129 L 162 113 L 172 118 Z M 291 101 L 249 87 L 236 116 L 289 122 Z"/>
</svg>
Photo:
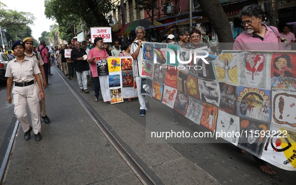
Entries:
<svg viewBox="0 0 296 185">
<path fill-rule="evenodd" d="M 75 37 L 74 33 L 79 32 L 76 30 L 78 25 L 84 27 L 83 30 L 90 27 L 109 27 L 105 14 L 111 12 L 114 7 L 110 0 L 46 0 L 45 15 L 59 24 L 60 38 L 70 41 Z M 113 33 L 112 37 L 117 38 L 117 35 Z"/>
</svg>

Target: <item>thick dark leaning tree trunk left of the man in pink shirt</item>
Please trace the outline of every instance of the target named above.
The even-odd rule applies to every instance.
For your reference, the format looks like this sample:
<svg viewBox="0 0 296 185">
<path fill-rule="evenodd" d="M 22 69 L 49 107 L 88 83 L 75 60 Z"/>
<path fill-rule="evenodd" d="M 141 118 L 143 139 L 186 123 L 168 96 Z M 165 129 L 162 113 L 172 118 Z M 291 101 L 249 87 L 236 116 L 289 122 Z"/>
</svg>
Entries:
<svg viewBox="0 0 296 185">
<path fill-rule="evenodd" d="M 220 43 L 233 43 L 233 36 L 222 6 L 218 0 L 198 0 L 198 3 L 210 21 Z"/>
</svg>

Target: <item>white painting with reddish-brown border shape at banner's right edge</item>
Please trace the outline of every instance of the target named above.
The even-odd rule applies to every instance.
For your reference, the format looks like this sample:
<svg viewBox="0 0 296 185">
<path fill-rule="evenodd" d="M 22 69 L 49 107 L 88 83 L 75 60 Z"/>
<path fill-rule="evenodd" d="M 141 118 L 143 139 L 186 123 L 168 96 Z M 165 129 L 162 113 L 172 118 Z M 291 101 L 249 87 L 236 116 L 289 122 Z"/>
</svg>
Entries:
<svg viewBox="0 0 296 185">
<path fill-rule="evenodd" d="M 271 122 L 296 131 L 296 92 L 272 90 Z"/>
</svg>

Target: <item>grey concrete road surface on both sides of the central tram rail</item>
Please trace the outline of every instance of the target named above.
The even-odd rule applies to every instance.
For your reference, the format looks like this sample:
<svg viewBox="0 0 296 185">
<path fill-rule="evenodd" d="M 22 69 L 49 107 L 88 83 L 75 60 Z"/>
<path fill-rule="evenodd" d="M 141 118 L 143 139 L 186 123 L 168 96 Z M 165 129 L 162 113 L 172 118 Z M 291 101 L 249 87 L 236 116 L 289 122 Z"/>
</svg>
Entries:
<svg viewBox="0 0 296 185">
<path fill-rule="evenodd" d="M 137 99 L 124 102 L 129 115 L 101 97 L 94 102 L 92 88 L 89 94 L 79 93 L 77 80 L 68 80 L 56 67 L 51 71 L 52 86 L 45 90 L 51 123 L 42 120 L 40 142 L 33 132 L 25 141 L 20 129 L 5 184 L 141 184 L 61 77 L 155 184 L 219 184 L 167 143 L 146 142 L 140 124 L 145 118 L 132 115 L 138 115 Z"/>
</svg>

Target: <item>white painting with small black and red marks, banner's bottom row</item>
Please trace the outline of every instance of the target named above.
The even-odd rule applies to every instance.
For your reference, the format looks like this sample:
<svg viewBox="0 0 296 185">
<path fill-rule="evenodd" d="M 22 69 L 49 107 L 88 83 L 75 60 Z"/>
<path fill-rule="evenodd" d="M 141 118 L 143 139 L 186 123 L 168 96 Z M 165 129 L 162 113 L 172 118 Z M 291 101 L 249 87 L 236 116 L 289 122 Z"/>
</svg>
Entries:
<svg viewBox="0 0 296 185">
<path fill-rule="evenodd" d="M 239 117 L 219 111 L 216 136 L 237 145 L 240 136 Z"/>
</svg>

